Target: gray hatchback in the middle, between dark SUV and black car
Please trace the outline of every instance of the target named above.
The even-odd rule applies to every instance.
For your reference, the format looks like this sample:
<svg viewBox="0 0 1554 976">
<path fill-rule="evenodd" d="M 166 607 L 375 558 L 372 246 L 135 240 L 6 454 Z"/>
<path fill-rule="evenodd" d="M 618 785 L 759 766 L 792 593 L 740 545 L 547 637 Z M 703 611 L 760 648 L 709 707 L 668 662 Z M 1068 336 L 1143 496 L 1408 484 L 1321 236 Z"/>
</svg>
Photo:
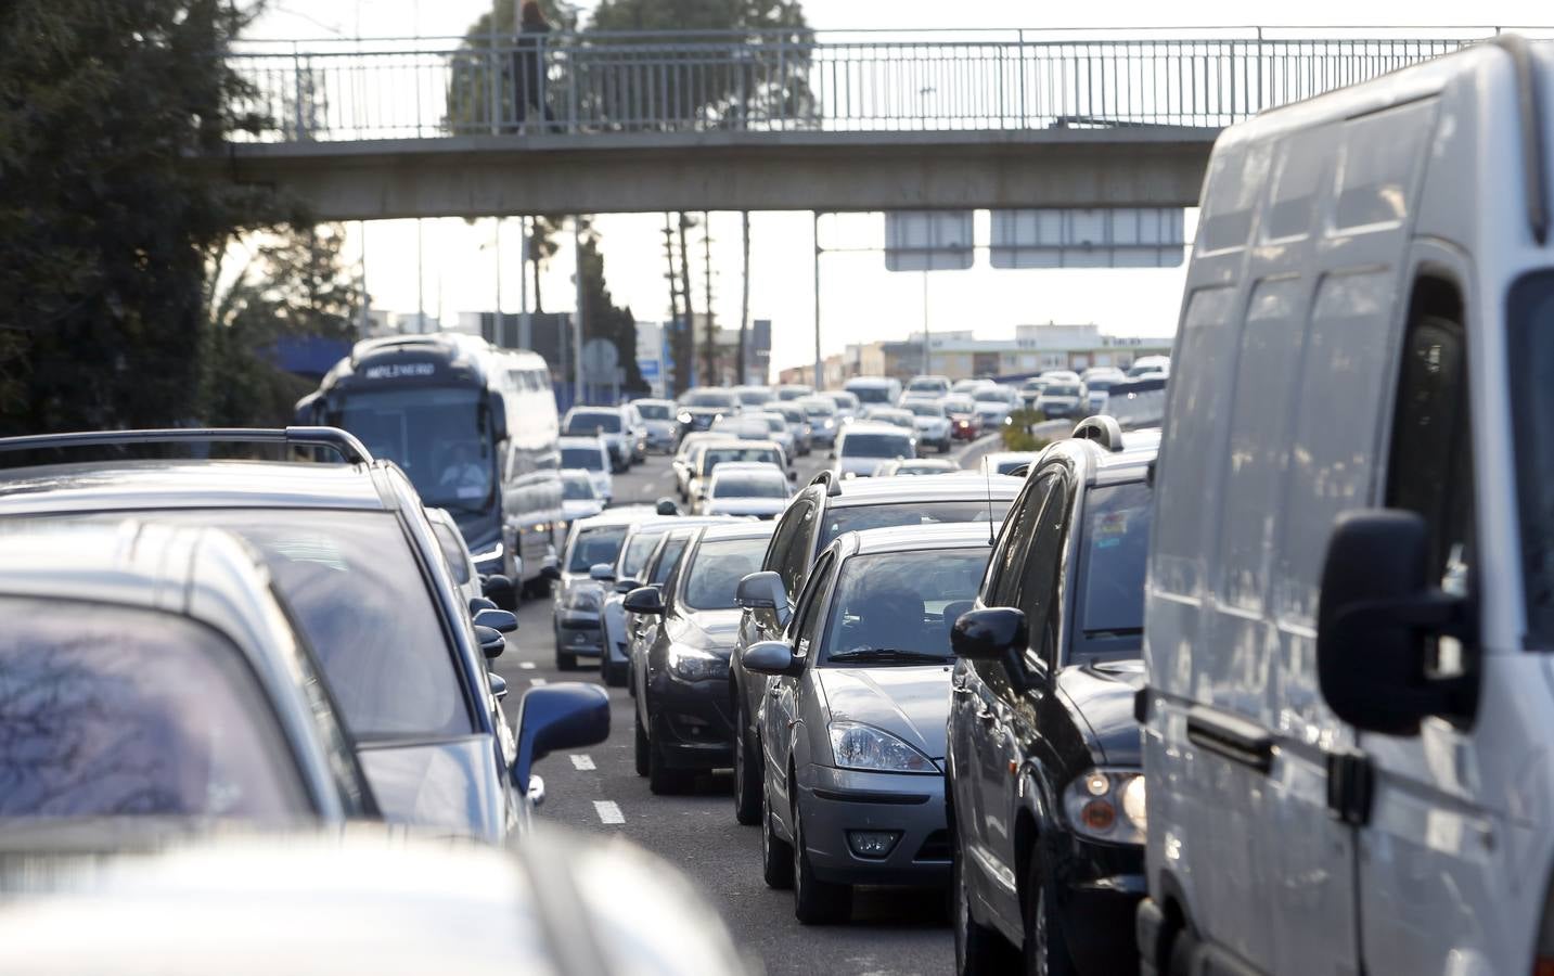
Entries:
<svg viewBox="0 0 1554 976">
<path fill-rule="evenodd" d="M 945 884 L 949 628 L 973 606 L 976 525 L 876 528 L 827 549 L 780 640 L 740 651 L 768 676 L 761 869 L 800 922 L 845 920 L 855 884 Z"/>
</svg>

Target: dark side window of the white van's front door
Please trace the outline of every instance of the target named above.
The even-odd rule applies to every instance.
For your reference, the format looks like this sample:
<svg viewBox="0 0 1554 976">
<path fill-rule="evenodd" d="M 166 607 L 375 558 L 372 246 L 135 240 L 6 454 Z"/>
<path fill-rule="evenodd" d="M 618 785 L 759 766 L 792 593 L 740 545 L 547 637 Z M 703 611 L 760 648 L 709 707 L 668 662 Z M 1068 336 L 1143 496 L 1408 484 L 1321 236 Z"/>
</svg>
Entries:
<svg viewBox="0 0 1554 976">
<path fill-rule="evenodd" d="M 1470 440 L 1462 325 L 1416 311 L 1399 373 L 1386 504 L 1425 518 L 1430 575 L 1455 592 L 1465 592 L 1473 541 Z"/>
</svg>

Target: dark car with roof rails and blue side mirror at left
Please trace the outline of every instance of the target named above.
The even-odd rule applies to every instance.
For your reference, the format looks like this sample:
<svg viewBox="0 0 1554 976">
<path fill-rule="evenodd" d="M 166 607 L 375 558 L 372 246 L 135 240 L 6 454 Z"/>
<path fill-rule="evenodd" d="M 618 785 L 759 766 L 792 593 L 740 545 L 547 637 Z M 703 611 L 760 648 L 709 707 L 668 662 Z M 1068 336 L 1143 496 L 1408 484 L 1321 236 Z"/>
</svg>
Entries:
<svg viewBox="0 0 1554 976">
<path fill-rule="evenodd" d="M 384 819 L 502 841 L 525 828 L 541 796 L 531 760 L 544 748 L 609 734 L 601 688 L 556 684 L 525 693 L 513 738 L 499 701 L 505 682 L 486 670 L 502 653 L 502 633 L 480 625 L 517 622 L 468 606 L 410 480 L 343 430 L 61 434 L 5 438 L 0 454 L 79 457 L 169 441 L 222 451 L 230 441 L 323 446 L 342 463 L 118 455 L 12 468 L 0 480 L 0 521 L 134 514 L 224 528 L 249 542 L 319 659 Z M 535 741 L 563 713 L 578 721 Z"/>
</svg>

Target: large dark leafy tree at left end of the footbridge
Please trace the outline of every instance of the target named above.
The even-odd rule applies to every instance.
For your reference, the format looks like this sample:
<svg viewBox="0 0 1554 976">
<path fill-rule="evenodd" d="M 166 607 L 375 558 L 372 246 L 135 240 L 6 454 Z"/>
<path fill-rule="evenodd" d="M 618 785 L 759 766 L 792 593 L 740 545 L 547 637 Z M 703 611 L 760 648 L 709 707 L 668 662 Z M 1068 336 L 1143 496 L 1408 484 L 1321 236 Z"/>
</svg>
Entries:
<svg viewBox="0 0 1554 976">
<path fill-rule="evenodd" d="M 292 216 L 188 166 L 256 129 L 221 56 L 253 9 L 0 5 L 0 432 L 200 417 L 207 270 Z"/>
</svg>

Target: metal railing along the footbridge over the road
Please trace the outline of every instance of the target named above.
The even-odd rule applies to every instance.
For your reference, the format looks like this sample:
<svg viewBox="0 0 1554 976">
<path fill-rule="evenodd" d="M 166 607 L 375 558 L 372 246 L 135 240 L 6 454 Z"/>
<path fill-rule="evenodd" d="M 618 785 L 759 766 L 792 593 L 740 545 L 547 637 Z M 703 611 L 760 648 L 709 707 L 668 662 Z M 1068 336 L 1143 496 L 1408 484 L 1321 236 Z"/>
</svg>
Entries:
<svg viewBox="0 0 1554 976">
<path fill-rule="evenodd" d="M 260 141 L 592 132 L 1220 127 L 1483 40 L 1026 31 L 249 45 Z"/>
</svg>

